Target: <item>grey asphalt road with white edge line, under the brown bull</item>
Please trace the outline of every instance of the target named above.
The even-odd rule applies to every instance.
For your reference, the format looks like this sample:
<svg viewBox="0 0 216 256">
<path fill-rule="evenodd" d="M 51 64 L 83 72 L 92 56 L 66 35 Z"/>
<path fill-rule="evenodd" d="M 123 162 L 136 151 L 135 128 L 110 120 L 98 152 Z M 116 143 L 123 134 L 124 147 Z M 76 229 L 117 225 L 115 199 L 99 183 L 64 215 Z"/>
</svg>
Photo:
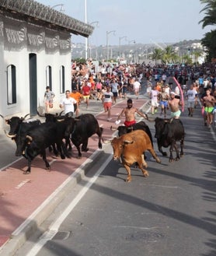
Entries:
<svg viewBox="0 0 216 256">
<path fill-rule="evenodd" d="M 162 163 L 147 153 L 149 177 L 132 168 L 127 184 L 126 170 L 111 160 L 106 145 L 16 256 L 215 255 L 216 139 L 203 125 L 200 109 L 181 119 L 186 129 L 181 160 L 169 163 L 155 145 Z M 148 124 L 154 135 L 154 122 Z"/>
</svg>

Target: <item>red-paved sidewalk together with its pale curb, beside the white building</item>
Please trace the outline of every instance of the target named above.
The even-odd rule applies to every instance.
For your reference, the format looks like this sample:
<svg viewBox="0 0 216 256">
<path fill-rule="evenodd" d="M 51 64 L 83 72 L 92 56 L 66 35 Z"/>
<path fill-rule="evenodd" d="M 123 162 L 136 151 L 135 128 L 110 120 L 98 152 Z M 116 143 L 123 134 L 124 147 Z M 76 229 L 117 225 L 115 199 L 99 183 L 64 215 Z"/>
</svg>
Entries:
<svg viewBox="0 0 216 256">
<path fill-rule="evenodd" d="M 134 100 L 134 107 L 140 108 L 144 104 L 147 106 L 147 103 L 148 100 L 142 96 Z M 107 114 L 103 113 L 101 102 L 90 101 L 88 110 L 82 104 L 82 114 L 96 115 L 99 125 L 103 127 L 103 139 L 106 140 L 112 136 L 110 126 L 116 126 L 114 121 L 120 110 L 127 106 L 127 101 L 118 100 L 112 107 L 110 122 L 106 121 Z M 45 170 L 44 161 L 37 156 L 33 160 L 31 174 L 23 175 L 26 160 L 14 157 L 16 146 L 4 136 L 1 132 L 0 139 L 4 149 L 1 149 L 0 168 L 0 255 L 8 256 L 13 255 L 44 222 L 68 191 L 82 179 L 82 175 L 85 175 L 85 171 L 103 149 L 98 149 L 98 137 L 93 135 L 89 139 L 89 152 L 83 153 L 82 159 L 76 158 L 76 149 L 72 149 L 71 159 L 66 160 L 47 152 L 47 160 L 51 163 L 50 172 Z M 10 164 L 4 168 L 2 163 Z"/>
</svg>

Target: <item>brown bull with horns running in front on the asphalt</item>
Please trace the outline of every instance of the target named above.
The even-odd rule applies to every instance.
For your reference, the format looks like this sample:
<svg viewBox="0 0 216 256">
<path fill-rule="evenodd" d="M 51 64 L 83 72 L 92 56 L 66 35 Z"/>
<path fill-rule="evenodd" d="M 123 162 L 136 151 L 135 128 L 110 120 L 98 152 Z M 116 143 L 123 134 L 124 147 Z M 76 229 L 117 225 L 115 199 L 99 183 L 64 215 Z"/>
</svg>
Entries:
<svg viewBox="0 0 216 256">
<path fill-rule="evenodd" d="M 121 158 L 124 168 L 127 170 L 127 182 L 131 181 L 131 165 L 135 162 L 138 163 L 143 175 L 145 177 L 148 176 L 148 171 L 143 168 L 147 168 L 147 163 L 144 159 L 145 150 L 152 154 L 157 163 L 161 163 L 161 160 L 155 154 L 147 133 L 142 130 L 122 135 L 120 138 L 114 138 L 111 141 L 111 145 L 113 146 L 113 160 Z"/>
</svg>

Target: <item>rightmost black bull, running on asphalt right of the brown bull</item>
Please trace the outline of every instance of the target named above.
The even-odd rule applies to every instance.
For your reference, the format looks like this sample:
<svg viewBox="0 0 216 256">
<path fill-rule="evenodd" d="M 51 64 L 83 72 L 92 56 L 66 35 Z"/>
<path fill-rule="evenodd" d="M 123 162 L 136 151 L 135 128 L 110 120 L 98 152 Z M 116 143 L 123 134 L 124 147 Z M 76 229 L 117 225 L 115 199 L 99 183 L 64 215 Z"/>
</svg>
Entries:
<svg viewBox="0 0 216 256">
<path fill-rule="evenodd" d="M 162 147 L 167 148 L 170 146 L 169 162 L 172 162 L 173 160 L 177 161 L 180 159 L 180 156 L 183 156 L 184 136 L 183 123 L 179 119 L 155 118 L 155 138 L 158 142 L 159 152 L 162 153 L 163 156 L 166 156 L 167 154 L 162 151 Z M 178 146 L 176 145 L 176 142 L 178 141 L 180 142 L 180 156 Z M 176 159 L 172 156 L 172 151 L 174 149 L 176 151 Z"/>
</svg>

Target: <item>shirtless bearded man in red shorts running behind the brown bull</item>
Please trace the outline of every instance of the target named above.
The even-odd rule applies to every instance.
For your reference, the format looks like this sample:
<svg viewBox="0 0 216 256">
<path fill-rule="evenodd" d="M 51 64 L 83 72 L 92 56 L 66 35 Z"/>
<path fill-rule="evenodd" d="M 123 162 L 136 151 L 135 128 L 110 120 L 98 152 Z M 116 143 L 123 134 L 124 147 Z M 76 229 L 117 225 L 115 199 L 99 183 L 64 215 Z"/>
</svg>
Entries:
<svg viewBox="0 0 216 256">
<path fill-rule="evenodd" d="M 145 114 L 141 113 L 136 107 L 133 107 L 133 101 L 131 99 L 128 99 L 127 107 L 124 107 L 124 109 L 121 111 L 120 115 L 117 117 L 117 121 L 119 121 L 120 117 L 124 114 L 125 115 L 124 125 L 127 127 L 131 126 L 132 124 L 136 123 L 135 113 L 147 119 Z"/>
</svg>

